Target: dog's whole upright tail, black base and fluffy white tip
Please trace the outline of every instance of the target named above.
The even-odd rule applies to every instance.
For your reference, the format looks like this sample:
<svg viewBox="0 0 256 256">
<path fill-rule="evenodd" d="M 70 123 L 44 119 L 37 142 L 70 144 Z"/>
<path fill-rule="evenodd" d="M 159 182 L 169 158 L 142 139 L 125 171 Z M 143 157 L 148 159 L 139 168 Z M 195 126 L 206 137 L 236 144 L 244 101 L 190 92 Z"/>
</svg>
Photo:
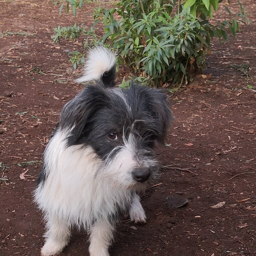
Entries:
<svg viewBox="0 0 256 256">
<path fill-rule="evenodd" d="M 116 77 L 116 53 L 104 46 L 92 48 L 85 61 L 83 76 L 76 82 L 102 82 L 105 87 L 113 87 Z"/>
</svg>

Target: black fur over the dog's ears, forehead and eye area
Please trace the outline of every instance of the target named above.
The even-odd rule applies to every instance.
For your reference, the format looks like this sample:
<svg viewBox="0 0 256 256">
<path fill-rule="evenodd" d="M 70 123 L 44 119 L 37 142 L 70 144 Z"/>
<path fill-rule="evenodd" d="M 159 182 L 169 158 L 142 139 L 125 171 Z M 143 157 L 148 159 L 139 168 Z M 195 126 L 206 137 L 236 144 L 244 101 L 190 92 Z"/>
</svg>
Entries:
<svg viewBox="0 0 256 256">
<path fill-rule="evenodd" d="M 90 145 L 105 159 L 114 148 L 118 152 L 130 133 L 140 149 L 152 149 L 155 141 L 163 143 L 170 121 L 167 96 L 159 89 L 90 85 L 64 106 L 59 125 L 71 130 L 67 146 Z M 118 139 L 110 140 L 109 133 L 116 133 Z"/>
</svg>

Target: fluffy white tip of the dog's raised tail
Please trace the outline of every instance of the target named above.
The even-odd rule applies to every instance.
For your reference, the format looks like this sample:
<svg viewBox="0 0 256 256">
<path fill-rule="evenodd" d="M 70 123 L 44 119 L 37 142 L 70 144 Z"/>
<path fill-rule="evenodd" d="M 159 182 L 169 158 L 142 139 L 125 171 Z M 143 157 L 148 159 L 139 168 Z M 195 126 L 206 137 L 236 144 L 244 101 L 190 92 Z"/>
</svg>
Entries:
<svg viewBox="0 0 256 256">
<path fill-rule="evenodd" d="M 116 53 L 105 48 L 96 46 L 89 53 L 84 66 L 84 74 L 76 79 L 76 82 L 88 82 L 100 80 L 104 72 L 109 71 L 116 63 Z"/>
</svg>

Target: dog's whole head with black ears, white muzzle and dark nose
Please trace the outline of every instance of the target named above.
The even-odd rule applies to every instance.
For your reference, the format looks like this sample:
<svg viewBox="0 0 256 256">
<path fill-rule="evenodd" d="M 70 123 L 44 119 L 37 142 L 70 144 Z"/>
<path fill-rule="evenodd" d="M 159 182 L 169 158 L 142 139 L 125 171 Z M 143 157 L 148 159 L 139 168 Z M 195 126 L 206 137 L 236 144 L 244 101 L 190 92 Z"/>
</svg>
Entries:
<svg viewBox="0 0 256 256">
<path fill-rule="evenodd" d="M 67 103 L 60 129 L 67 146 L 90 146 L 116 186 L 143 188 L 157 176 L 155 142 L 163 143 L 171 113 L 167 96 L 157 89 L 131 85 L 107 89 L 91 85 Z"/>
</svg>

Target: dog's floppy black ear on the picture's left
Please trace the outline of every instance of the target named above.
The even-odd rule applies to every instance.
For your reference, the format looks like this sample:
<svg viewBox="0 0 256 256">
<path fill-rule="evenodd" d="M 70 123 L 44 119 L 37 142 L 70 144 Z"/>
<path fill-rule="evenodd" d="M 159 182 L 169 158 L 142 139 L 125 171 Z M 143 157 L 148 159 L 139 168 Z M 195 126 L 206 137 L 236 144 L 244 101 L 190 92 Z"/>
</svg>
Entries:
<svg viewBox="0 0 256 256">
<path fill-rule="evenodd" d="M 60 129 L 67 129 L 68 145 L 82 143 L 93 128 L 93 115 L 109 105 L 106 90 L 100 85 L 87 86 L 74 99 L 69 101 L 60 114 Z"/>
</svg>

